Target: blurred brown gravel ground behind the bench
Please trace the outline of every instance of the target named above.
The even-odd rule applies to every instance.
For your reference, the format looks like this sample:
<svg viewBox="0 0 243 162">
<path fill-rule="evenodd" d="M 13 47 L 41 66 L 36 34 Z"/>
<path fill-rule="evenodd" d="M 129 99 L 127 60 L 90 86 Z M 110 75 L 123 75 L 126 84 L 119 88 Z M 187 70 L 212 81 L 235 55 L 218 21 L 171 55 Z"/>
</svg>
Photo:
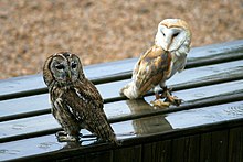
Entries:
<svg viewBox="0 0 243 162">
<path fill-rule="evenodd" d="M 0 78 L 41 73 L 59 51 L 84 65 L 139 56 L 166 18 L 190 24 L 192 46 L 243 39 L 242 0 L 0 0 Z"/>
</svg>

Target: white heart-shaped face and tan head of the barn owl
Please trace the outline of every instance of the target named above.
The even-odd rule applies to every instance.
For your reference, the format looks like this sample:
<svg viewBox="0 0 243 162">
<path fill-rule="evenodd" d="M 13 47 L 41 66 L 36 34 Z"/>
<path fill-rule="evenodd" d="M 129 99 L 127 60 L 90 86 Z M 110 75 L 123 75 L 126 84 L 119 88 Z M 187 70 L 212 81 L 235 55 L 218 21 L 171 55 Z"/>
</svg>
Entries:
<svg viewBox="0 0 243 162">
<path fill-rule="evenodd" d="M 158 25 L 155 42 L 165 51 L 176 51 L 184 43 L 190 45 L 191 32 L 183 20 L 165 19 Z"/>
</svg>

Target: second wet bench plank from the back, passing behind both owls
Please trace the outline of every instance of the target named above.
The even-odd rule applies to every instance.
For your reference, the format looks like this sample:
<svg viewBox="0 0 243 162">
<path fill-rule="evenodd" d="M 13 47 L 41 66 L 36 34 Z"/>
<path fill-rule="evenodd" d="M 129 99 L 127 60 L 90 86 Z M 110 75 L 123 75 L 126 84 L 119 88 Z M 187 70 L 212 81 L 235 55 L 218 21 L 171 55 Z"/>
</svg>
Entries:
<svg viewBox="0 0 243 162">
<path fill-rule="evenodd" d="M 243 71 L 242 64 L 243 61 L 236 61 L 186 69 L 183 73 L 172 77 L 168 82 L 168 85 L 172 86 L 175 90 L 178 90 L 243 78 L 243 74 L 241 73 Z M 200 75 L 191 75 L 197 73 L 200 73 Z M 119 97 L 119 89 L 128 82 L 129 79 L 101 84 L 97 85 L 97 88 L 104 97 L 105 102 L 120 100 L 123 97 Z M 50 107 L 47 94 L 2 100 L 0 101 L 0 121 L 49 114 Z"/>
</svg>

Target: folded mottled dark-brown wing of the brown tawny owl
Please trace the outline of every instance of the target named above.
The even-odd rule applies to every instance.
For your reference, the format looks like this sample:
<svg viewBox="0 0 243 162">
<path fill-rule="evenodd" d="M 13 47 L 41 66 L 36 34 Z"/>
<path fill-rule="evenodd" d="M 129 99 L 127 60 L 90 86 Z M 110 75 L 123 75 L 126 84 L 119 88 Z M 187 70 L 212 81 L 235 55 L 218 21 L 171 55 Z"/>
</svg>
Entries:
<svg viewBox="0 0 243 162">
<path fill-rule="evenodd" d="M 115 134 L 103 110 L 103 99 L 89 80 L 84 80 L 64 96 L 82 127 L 104 140 L 115 141 Z"/>
</svg>

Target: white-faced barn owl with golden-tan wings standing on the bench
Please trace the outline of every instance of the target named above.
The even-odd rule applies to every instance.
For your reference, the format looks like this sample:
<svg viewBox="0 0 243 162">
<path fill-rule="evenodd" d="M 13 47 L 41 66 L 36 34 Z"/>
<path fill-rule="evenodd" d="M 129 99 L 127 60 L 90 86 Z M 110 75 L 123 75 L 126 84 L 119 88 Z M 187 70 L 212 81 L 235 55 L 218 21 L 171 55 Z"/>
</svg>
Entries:
<svg viewBox="0 0 243 162">
<path fill-rule="evenodd" d="M 122 88 L 120 94 L 136 99 L 154 89 L 156 100 L 152 104 L 161 105 L 159 99 L 166 98 L 167 102 L 179 106 L 181 99 L 171 96 L 166 80 L 184 68 L 190 43 L 191 32 L 183 20 L 165 19 L 161 21 L 155 37 L 155 45 L 140 56 L 135 65 L 131 83 Z M 161 88 L 163 93 L 159 94 Z"/>
</svg>

